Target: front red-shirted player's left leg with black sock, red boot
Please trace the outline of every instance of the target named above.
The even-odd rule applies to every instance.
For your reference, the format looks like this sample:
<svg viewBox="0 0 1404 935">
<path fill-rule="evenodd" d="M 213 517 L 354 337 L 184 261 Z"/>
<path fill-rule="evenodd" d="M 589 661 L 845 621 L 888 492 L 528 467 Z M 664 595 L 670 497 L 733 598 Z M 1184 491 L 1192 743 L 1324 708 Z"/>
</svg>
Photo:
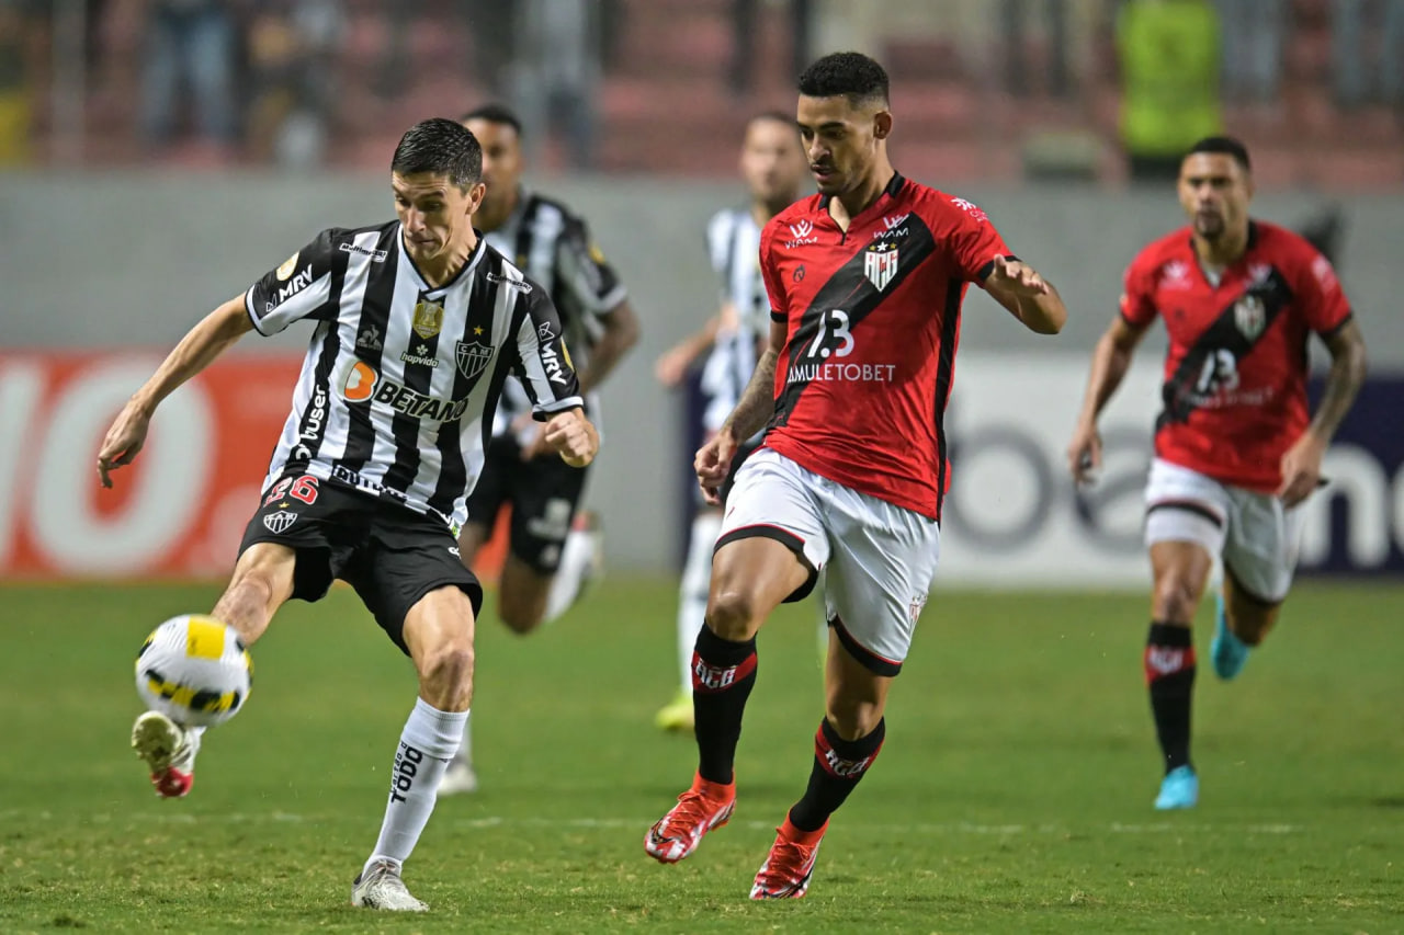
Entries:
<svg viewBox="0 0 1404 935">
<path fill-rule="evenodd" d="M 736 744 L 746 701 L 755 685 L 755 633 L 771 611 L 807 591 L 814 578 L 802 557 L 804 542 L 799 536 L 776 526 L 733 529 L 736 533 L 730 541 L 723 533 L 713 556 L 706 625 L 698 633 L 692 656 L 698 769 L 692 786 L 649 828 L 643 841 L 644 851 L 664 863 L 677 863 L 692 854 L 708 831 L 731 817 Z M 772 538 L 776 535 L 786 542 Z"/>
</svg>

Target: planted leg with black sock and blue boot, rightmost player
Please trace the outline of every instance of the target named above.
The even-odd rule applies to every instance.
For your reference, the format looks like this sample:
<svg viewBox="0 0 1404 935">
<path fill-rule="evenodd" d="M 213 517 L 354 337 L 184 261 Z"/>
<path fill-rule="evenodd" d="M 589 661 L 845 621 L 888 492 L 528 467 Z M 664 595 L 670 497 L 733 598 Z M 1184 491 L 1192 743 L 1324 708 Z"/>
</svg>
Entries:
<svg viewBox="0 0 1404 935">
<path fill-rule="evenodd" d="M 1160 541 L 1150 546 L 1154 591 L 1146 636 L 1146 685 L 1165 776 L 1157 809 L 1192 809 L 1199 776 L 1189 760 L 1189 724 L 1195 689 L 1193 619 L 1213 556 L 1199 542 Z"/>
</svg>

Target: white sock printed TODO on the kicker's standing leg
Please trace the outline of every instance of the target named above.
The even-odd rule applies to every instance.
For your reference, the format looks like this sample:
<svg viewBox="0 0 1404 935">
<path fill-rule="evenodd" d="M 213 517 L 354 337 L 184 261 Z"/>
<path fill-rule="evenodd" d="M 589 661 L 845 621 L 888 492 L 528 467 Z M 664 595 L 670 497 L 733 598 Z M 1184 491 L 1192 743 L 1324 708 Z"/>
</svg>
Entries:
<svg viewBox="0 0 1404 935">
<path fill-rule="evenodd" d="M 390 768 L 390 800 L 385 806 L 380 840 L 362 873 L 376 861 L 400 866 L 410 856 L 434 811 L 439 779 L 458 752 L 466 724 L 466 710 L 439 710 L 423 698 L 414 701 Z"/>
</svg>

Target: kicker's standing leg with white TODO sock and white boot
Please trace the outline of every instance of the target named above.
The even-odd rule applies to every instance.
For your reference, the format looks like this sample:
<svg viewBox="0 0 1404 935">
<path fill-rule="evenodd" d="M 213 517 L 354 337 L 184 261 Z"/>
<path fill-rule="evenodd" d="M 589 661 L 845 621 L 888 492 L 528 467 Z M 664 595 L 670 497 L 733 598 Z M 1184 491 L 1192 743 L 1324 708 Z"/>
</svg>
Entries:
<svg viewBox="0 0 1404 935">
<path fill-rule="evenodd" d="M 434 811 L 438 783 L 453 758 L 473 694 L 473 605 L 458 585 L 420 598 L 404 616 L 403 640 L 420 677 L 390 769 L 390 796 L 375 851 L 357 876 L 351 903 L 421 913 L 402 868 Z"/>
</svg>

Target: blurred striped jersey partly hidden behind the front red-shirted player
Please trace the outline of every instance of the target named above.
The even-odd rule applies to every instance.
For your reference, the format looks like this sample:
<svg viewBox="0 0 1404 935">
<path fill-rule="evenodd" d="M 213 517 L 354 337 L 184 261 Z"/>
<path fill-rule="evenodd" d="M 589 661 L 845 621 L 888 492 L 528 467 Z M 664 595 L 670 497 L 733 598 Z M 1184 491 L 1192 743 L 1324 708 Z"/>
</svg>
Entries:
<svg viewBox="0 0 1404 935">
<path fill-rule="evenodd" d="M 736 307 L 737 327 L 722 329 L 702 366 L 702 425 L 716 431 L 736 409 L 755 371 L 757 348 L 769 337 L 771 303 L 761 279 L 761 226 L 750 208 L 727 208 L 706 226 L 722 302 Z"/>
</svg>

